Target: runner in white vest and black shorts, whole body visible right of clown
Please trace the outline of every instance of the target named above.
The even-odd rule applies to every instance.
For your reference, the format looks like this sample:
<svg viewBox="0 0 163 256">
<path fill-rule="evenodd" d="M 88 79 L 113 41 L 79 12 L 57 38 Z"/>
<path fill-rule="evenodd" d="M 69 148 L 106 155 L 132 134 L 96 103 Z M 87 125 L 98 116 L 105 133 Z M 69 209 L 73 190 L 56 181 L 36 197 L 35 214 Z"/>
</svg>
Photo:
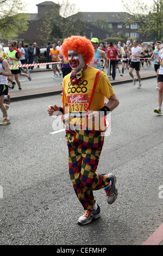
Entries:
<svg viewBox="0 0 163 256">
<path fill-rule="evenodd" d="M 138 84 L 137 88 L 141 88 L 141 77 L 140 77 L 140 74 L 139 74 L 140 58 L 141 57 L 143 58 L 144 56 L 143 56 L 142 49 L 138 46 L 138 40 L 137 39 L 135 39 L 133 41 L 133 45 L 134 45 L 134 47 L 131 48 L 131 56 L 130 56 L 131 64 L 130 64 L 130 67 L 129 67 L 129 75 L 133 78 L 133 85 L 135 86 L 136 78 L 133 75 L 133 69 L 136 70 L 136 75 L 137 75 L 137 78 L 139 80 L 139 84 Z"/>
</svg>

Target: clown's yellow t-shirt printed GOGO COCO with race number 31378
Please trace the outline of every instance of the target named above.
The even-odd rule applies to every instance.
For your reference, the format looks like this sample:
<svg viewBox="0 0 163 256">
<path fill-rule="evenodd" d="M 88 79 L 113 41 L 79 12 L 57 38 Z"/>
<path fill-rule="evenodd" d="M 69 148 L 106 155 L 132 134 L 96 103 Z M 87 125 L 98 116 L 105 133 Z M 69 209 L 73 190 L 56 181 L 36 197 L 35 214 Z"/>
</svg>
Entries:
<svg viewBox="0 0 163 256">
<path fill-rule="evenodd" d="M 70 81 L 71 73 L 64 77 L 62 85 L 65 95 L 64 103 L 68 105 L 70 122 L 73 123 L 76 121 L 76 123 L 79 124 L 80 118 L 73 118 L 73 116 L 78 115 L 79 112 L 82 114 L 86 113 L 97 71 L 98 69 L 87 66 L 86 70 L 83 72 L 81 81 L 76 85 L 73 85 Z M 98 111 L 98 109 L 104 106 L 105 97 L 109 99 L 112 95 L 114 95 L 114 90 L 112 89 L 108 77 L 104 72 L 100 72 L 89 110 Z M 63 96 L 61 102 L 63 102 Z M 83 117 L 83 115 L 78 115 L 78 117 Z"/>
</svg>

